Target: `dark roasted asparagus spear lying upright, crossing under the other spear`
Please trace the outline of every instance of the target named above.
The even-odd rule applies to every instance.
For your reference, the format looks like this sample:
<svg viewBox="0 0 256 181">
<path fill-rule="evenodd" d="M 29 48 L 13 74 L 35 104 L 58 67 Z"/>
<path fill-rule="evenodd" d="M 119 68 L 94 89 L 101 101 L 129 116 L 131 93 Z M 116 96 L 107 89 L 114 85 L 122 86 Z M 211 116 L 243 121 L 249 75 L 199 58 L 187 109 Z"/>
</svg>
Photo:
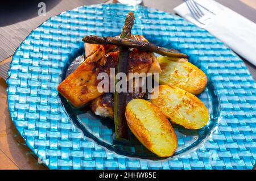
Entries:
<svg viewBox="0 0 256 181">
<path fill-rule="evenodd" d="M 129 12 L 125 19 L 125 25 L 121 33 L 121 38 L 129 39 L 131 36 L 131 28 L 134 24 L 134 14 Z M 118 64 L 116 73 L 122 72 L 127 74 L 127 61 L 129 56 L 129 48 L 119 47 Z M 119 80 L 115 79 L 115 85 Z M 129 139 L 128 127 L 125 118 L 126 108 L 126 92 L 114 93 L 114 123 L 115 123 L 115 137 L 117 140 Z"/>
</svg>

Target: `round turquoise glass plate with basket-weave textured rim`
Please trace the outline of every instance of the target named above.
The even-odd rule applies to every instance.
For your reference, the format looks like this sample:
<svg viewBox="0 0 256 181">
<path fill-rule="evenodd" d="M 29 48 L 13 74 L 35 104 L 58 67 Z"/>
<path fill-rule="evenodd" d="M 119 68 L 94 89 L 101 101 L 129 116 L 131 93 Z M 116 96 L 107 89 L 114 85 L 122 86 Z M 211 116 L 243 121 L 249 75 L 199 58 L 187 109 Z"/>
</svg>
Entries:
<svg viewBox="0 0 256 181">
<path fill-rule="evenodd" d="M 113 139 L 113 121 L 75 109 L 57 92 L 67 67 L 84 52 L 85 35 L 115 36 L 134 11 L 133 34 L 175 48 L 207 74 L 199 98 L 208 125 L 190 131 L 174 125 L 178 148 L 160 159 L 135 137 Z M 27 146 L 49 169 L 252 169 L 256 160 L 256 84 L 243 61 L 207 31 L 154 9 L 119 4 L 78 7 L 33 30 L 9 70 L 11 117 Z"/>
</svg>

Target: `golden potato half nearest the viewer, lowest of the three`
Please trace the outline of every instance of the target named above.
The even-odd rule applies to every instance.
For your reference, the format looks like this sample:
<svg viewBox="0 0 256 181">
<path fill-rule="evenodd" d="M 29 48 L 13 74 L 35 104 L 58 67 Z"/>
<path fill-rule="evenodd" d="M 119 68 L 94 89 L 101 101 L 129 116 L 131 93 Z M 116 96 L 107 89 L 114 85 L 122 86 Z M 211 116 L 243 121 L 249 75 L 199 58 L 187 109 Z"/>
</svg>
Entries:
<svg viewBox="0 0 256 181">
<path fill-rule="evenodd" d="M 144 146 L 159 157 L 170 157 L 177 148 L 177 136 L 170 122 L 154 104 L 133 99 L 126 107 L 127 124 Z"/>
</svg>

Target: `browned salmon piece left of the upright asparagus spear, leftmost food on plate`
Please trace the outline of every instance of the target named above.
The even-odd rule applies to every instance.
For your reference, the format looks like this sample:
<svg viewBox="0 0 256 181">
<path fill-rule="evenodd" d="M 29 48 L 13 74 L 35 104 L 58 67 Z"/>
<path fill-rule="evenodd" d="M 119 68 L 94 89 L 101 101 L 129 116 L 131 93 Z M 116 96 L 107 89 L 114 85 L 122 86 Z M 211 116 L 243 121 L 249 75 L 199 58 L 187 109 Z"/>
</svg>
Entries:
<svg viewBox="0 0 256 181">
<path fill-rule="evenodd" d="M 115 66 L 118 53 L 112 54 L 109 53 L 106 57 L 104 47 L 100 46 L 96 52 L 88 56 L 73 73 L 60 83 L 57 90 L 75 107 L 83 106 L 102 95 L 103 93 L 98 92 L 97 89 L 98 82 L 100 82 L 97 76 L 101 72 L 108 72 L 110 67 Z M 106 60 L 108 66 L 100 66 L 102 60 Z"/>
</svg>

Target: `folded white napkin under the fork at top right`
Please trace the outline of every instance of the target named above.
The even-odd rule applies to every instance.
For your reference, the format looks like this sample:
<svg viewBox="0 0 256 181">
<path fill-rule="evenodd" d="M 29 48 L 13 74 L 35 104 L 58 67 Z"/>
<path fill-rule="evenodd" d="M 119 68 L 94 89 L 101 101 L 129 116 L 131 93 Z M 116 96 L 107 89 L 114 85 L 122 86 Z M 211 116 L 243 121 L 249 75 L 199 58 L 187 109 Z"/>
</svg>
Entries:
<svg viewBox="0 0 256 181">
<path fill-rule="evenodd" d="M 175 7 L 174 11 L 193 24 L 209 31 L 233 49 L 234 52 L 256 66 L 256 24 L 216 1 L 195 1 L 216 15 L 199 6 L 209 17 L 205 24 L 200 24 L 193 18 L 185 2 Z"/>
</svg>

